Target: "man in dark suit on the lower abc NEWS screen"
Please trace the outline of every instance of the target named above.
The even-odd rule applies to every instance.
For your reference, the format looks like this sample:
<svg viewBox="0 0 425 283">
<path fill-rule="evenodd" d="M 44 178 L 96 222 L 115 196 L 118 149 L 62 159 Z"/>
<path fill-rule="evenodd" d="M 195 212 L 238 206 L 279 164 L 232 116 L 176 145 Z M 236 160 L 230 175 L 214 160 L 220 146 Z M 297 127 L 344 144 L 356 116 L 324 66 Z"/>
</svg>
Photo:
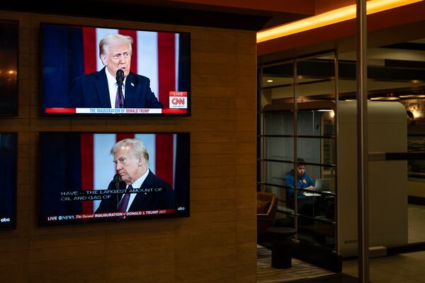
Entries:
<svg viewBox="0 0 425 283">
<path fill-rule="evenodd" d="M 176 195 L 172 187 L 149 170 L 149 154 L 140 139 L 123 139 L 111 149 L 116 171 L 120 175 L 120 190 L 133 193 L 113 195 L 102 200 L 96 213 L 135 212 L 140 210 L 176 209 Z M 108 190 L 117 187 L 113 180 Z"/>
</svg>

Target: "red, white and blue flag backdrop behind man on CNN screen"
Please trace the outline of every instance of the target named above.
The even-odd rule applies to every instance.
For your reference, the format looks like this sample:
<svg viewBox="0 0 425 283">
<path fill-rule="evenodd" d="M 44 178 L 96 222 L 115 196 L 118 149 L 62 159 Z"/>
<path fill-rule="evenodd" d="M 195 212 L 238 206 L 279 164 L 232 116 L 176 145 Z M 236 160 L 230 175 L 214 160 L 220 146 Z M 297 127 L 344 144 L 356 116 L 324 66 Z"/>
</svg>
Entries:
<svg viewBox="0 0 425 283">
<path fill-rule="evenodd" d="M 158 100 L 169 108 L 170 91 L 190 88 L 190 39 L 186 33 L 42 24 L 42 107 L 66 107 L 72 81 L 104 66 L 98 44 L 110 33 L 133 39 L 130 71 L 147 76 Z"/>
</svg>

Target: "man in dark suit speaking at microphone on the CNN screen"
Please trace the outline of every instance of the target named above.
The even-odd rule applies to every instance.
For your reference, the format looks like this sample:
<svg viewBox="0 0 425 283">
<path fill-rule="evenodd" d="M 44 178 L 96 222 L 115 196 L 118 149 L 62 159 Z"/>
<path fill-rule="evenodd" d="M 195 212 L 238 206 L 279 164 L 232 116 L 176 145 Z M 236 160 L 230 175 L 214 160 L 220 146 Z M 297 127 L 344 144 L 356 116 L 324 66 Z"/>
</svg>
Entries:
<svg viewBox="0 0 425 283">
<path fill-rule="evenodd" d="M 162 108 L 146 76 L 130 72 L 132 37 L 112 33 L 99 42 L 101 71 L 79 76 L 72 82 L 67 106 L 70 108 Z M 117 71 L 124 73 L 118 91 Z"/>
</svg>

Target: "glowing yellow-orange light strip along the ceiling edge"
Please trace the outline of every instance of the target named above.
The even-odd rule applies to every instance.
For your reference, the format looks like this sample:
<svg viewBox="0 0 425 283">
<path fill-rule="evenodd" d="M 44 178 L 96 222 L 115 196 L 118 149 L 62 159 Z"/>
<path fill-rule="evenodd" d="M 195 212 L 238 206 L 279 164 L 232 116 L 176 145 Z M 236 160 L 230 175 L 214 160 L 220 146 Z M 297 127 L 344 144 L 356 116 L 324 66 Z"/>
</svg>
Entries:
<svg viewBox="0 0 425 283">
<path fill-rule="evenodd" d="M 378 13 L 381 11 L 388 10 L 390 8 L 397 8 L 400 6 L 413 4 L 420 1 L 423 0 L 370 0 L 366 3 L 366 13 L 370 15 L 372 13 Z M 356 18 L 355 4 L 345 6 L 343 8 L 337 8 L 326 13 L 321 13 L 317 16 L 304 18 L 300 21 L 295 21 L 293 23 L 278 25 L 275 28 L 261 30 L 257 33 L 257 43 L 267 40 L 273 40 L 278 37 L 284 37 L 286 35 L 293 35 L 294 33 L 301 33 L 305 30 L 312 30 L 313 28 L 320 28 L 325 25 L 331 25 L 333 23 L 348 21 L 353 18 Z"/>
</svg>

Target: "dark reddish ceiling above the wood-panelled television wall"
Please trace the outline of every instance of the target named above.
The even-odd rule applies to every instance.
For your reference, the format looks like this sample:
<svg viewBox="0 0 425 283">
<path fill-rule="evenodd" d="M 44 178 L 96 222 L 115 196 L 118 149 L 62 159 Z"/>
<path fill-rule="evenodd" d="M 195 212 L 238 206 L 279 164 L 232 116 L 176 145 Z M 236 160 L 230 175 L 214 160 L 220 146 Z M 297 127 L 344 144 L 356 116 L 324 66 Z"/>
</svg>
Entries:
<svg viewBox="0 0 425 283">
<path fill-rule="evenodd" d="M 0 9 L 258 31 L 353 3 L 354 0 L 74 0 L 40 5 L 37 1 L 16 0 L 1 1 Z"/>
</svg>

